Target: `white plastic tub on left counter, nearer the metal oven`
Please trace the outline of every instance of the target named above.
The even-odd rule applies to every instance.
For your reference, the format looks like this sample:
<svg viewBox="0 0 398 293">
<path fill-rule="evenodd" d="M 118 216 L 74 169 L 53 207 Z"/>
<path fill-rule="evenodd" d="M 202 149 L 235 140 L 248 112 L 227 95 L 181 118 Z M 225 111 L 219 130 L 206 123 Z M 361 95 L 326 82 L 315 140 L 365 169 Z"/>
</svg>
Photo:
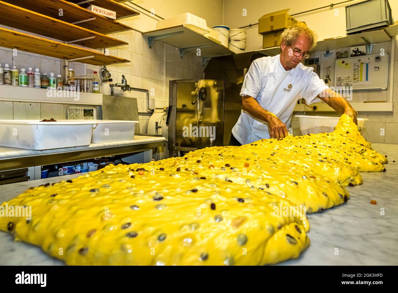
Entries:
<svg viewBox="0 0 398 293">
<path fill-rule="evenodd" d="M 125 120 L 90 120 L 96 126 L 91 142 L 123 142 L 134 140 L 135 125 L 138 121 Z"/>
</svg>

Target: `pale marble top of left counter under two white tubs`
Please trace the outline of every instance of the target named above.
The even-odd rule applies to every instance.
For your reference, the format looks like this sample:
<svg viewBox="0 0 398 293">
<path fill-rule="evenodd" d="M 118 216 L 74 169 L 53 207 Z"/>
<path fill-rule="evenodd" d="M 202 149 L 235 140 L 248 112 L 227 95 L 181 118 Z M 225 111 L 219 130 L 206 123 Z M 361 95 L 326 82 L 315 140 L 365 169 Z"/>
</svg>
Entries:
<svg viewBox="0 0 398 293">
<path fill-rule="evenodd" d="M 44 155 L 53 153 L 67 153 L 70 151 L 86 151 L 91 149 L 101 149 L 106 147 L 118 147 L 118 146 L 129 146 L 137 144 L 146 144 L 148 142 L 162 142 L 166 138 L 161 136 L 141 136 L 135 135 L 134 140 L 127 140 L 123 142 L 103 142 L 90 144 L 89 146 L 79 147 L 64 147 L 60 149 L 45 149 L 43 151 L 36 151 L 34 149 L 20 149 L 16 147 L 2 147 L 0 146 L 0 160 L 17 157 L 28 157 L 33 155 Z"/>
</svg>

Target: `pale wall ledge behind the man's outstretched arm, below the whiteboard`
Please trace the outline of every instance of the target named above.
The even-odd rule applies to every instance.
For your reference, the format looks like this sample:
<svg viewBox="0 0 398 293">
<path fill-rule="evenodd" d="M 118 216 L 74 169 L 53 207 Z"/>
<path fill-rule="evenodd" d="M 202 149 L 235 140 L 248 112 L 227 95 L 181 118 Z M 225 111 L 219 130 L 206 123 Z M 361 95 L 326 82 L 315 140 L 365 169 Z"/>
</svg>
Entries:
<svg viewBox="0 0 398 293">
<path fill-rule="evenodd" d="M 350 103 L 351 106 L 357 112 L 392 112 L 393 103 Z M 315 103 L 310 106 L 316 106 L 316 110 L 312 110 L 310 107 L 304 104 L 297 104 L 295 106 L 294 112 L 334 112 L 333 108 L 331 108 L 326 103 Z"/>
</svg>

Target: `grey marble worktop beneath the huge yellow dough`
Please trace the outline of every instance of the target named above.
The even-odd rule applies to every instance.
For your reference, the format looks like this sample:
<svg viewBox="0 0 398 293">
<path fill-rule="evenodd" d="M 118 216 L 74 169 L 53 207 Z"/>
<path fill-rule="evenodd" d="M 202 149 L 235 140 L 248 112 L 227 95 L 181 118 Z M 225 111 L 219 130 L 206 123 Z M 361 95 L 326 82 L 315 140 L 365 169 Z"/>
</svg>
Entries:
<svg viewBox="0 0 398 293">
<path fill-rule="evenodd" d="M 308 214 L 310 246 L 298 259 L 281 265 L 398 265 L 398 145 L 373 144 L 373 148 L 388 156 L 387 171 L 361 173 L 363 185 L 347 187 L 351 198 L 345 205 L 321 214 Z M 0 202 L 16 197 L 33 185 L 58 181 L 59 178 L 54 177 L 0 185 Z M 371 200 L 377 201 L 377 205 L 372 205 Z M 380 215 L 381 208 L 384 215 Z M 0 247 L 0 265 L 64 264 L 36 246 L 14 242 L 6 232 L 0 231 Z"/>
</svg>

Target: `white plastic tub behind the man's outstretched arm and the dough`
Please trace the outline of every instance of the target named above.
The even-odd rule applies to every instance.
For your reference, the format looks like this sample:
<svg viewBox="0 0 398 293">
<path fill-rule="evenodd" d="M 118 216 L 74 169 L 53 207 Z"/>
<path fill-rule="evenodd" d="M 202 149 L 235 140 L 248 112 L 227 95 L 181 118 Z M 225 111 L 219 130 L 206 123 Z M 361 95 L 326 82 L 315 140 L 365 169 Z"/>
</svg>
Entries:
<svg viewBox="0 0 398 293">
<path fill-rule="evenodd" d="M 321 132 L 332 132 L 339 122 L 339 117 L 327 117 L 327 116 L 306 116 L 306 115 L 295 115 L 298 118 L 300 124 L 301 135 L 308 133 L 321 133 Z M 365 122 L 369 119 L 358 118 L 359 130 L 365 127 Z"/>
</svg>

